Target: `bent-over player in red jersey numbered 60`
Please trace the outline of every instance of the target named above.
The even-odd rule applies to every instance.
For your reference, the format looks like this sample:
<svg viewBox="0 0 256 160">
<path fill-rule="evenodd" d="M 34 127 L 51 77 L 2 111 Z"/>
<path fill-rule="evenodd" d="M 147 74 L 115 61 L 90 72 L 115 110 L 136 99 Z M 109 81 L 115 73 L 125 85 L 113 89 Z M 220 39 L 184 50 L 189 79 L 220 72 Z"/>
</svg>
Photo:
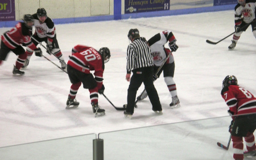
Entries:
<svg viewBox="0 0 256 160">
<path fill-rule="evenodd" d="M 99 51 L 85 45 L 76 45 L 72 49 L 72 56 L 68 61 L 68 77 L 72 83 L 67 100 L 67 107 L 76 108 L 76 94 L 81 84 L 89 89 L 90 100 L 95 117 L 104 116 L 105 110 L 98 106 L 98 93 L 103 94 L 105 87 L 102 83 L 104 64 L 109 61 L 110 50 L 102 47 Z M 90 70 L 94 70 L 94 77 Z"/>
</svg>

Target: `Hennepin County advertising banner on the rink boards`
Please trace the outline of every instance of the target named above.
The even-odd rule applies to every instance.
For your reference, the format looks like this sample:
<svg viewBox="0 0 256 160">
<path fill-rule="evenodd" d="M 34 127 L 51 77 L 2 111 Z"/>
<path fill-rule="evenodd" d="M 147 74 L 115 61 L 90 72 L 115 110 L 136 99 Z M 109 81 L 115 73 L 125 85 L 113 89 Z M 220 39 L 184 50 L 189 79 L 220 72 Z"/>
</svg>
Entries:
<svg viewBox="0 0 256 160">
<path fill-rule="evenodd" d="M 170 10 L 170 0 L 125 0 L 125 14 Z"/>
</svg>

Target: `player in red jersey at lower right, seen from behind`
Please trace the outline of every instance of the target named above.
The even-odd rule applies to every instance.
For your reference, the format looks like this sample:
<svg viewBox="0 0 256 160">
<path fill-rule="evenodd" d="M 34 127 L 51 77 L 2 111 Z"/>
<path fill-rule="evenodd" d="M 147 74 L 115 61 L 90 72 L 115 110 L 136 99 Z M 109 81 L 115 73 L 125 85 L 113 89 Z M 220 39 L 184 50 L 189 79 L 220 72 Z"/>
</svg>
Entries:
<svg viewBox="0 0 256 160">
<path fill-rule="evenodd" d="M 253 135 L 256 129 L 256 98 L 250 91 L 237 85 L 237 78 L 234 75 L 226 76 L 222 87 L 221 96 L 228 105 L 228 113 L 233 119 L 229 126 L 233 141 L 233 158 L 254 157 L 256 156 Z M 243 137 L 247 148 L 245 152 L 243 152 Z"/>
</svg>

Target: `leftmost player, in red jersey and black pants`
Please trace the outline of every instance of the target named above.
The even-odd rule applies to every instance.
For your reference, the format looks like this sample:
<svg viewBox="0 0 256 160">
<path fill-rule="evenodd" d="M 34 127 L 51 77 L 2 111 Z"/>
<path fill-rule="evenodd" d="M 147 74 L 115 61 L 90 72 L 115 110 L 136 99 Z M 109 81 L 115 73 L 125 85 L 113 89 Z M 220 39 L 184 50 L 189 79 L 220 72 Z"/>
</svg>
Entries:
<svg viewBox="0 0 256 160">
<path fill-rule="evenodd" d="M 20 68 L 24 65 L 27 54 L 21 46 L 22 44 L 26 45 L 28 49 L 35 50 L 36 56 L 42 54 L 41 49 L 36 48 L 30 39 L 33 25 L 34 19 L 32 15 L 26 14 L 24 15 L 23 22 L 19 22 L 14 28 L 3 33 L 1 36 L 0 65 L 2 64 L 2 61 L 6 60 L 7 54 L 10 51 L 18 56 L 16 65 L 14 65 L 13 74 L 24 74 L 24 71 L 20 71 Z"/>
</svg>

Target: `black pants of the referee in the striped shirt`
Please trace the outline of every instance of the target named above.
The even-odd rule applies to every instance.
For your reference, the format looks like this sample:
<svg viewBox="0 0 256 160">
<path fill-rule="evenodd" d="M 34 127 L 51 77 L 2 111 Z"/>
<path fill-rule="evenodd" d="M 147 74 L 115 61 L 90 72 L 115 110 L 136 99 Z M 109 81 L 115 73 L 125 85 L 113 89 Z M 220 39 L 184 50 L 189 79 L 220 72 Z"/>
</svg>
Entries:
<svg viewBox="0 0 256 160">
<path fill-rule="evenodd" d="M 153 71 L 153 66 L 133 70 L 133 75 L 131 76 L 131 81 L 128 88 L 126 112 L 132 114 L 134 113 L 136 94 L 142 82 L 144 83 L 148 98 L 152 104 L 152 110 L 162 111 L 158 92 L 156 91 L 153 83 Z"/>
</svg>

